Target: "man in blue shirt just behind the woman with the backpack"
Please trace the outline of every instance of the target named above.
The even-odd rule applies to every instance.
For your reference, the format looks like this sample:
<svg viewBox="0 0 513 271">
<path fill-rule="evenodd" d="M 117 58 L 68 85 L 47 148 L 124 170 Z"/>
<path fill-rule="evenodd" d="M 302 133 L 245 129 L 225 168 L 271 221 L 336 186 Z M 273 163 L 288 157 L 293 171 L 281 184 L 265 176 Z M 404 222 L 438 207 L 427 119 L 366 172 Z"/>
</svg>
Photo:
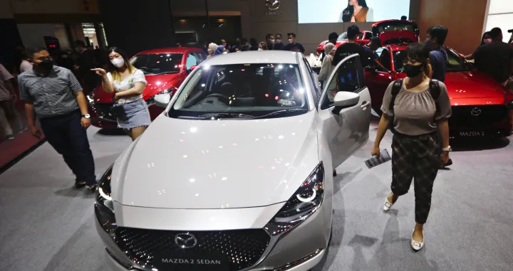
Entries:
<svg viewBox="0 0 513 271">
<path fill-rule="evenodd" d="M 445 26 L 431 26 L 427 29 L 425 46 L 430 49 L 430 64 L 433 70 L 432 79 L 445 81 L 447 71 L 447 52 L 443 46 L 449 30 Z"/>
</svg>

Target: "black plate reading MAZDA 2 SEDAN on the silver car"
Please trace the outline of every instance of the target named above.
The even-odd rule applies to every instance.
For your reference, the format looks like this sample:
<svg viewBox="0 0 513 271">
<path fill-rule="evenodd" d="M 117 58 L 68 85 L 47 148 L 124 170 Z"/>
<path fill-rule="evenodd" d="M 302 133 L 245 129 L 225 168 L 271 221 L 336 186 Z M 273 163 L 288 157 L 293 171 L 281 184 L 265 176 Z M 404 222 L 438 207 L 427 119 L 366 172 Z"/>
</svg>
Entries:
<svg viewBox="0 0 513 271">
<path fill-rule="evenodd" d="M 155 253 L 153 264 L 159 271 L 228 271 L 229 259 L 220 253 L 194 251 Z"/>
</svg>

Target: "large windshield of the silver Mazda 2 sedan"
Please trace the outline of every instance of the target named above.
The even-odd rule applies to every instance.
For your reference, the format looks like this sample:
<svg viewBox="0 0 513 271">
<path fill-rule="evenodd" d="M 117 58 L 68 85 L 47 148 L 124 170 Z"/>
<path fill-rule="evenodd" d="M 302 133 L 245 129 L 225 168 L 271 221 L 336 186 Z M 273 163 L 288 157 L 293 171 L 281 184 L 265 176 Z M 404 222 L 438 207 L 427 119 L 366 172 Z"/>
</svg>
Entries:
<svg viewBox="0 0 513 271">
<path fill-rule="evenodd" d="M 270 118 L 308 111 L 299 65 L 205 65 L 185 83 L 169 117 Z"/>
</svg>

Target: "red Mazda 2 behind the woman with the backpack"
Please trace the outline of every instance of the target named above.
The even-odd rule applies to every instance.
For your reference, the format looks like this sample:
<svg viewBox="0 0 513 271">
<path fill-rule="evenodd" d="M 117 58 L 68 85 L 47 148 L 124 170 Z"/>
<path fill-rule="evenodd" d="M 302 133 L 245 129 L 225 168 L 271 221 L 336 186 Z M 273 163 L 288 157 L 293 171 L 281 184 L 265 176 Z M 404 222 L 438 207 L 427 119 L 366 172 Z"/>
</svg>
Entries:
<svg viewBox="0 0 513 271">
<path fill-rule="evenodd" d="M 366 69 L 366 84 L 372 107 L 381 114 L 381 103 L 388 85 L 405 78 L 403 59 L 408 44 L 391 44 L 376 53 L 386 70 Z M 513 95 L 484 73 L 472 69 L 460 55 L 446 48 L 449 64 L 445 85 L 452 106 L 449 119 L 451 137 L 508 137 L 511 134 L 510 109 Z"/>
</svg>

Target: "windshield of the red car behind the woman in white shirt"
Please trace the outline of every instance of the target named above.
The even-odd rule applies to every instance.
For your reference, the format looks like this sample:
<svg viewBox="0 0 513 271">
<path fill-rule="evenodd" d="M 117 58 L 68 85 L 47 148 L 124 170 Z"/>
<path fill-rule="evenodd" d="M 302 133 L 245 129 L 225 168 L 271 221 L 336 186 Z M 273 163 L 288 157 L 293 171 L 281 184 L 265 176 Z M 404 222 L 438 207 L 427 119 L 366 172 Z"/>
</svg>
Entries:
<svg viewBox="0 0 513 271">
<path fill-rule="evenodd" d="M 135 55 L 130 63 L 142 70 L 145 75 L 180 73 L 182 68 L 181 53 L 157 53 L 151 55 Z"/>
</svg>

